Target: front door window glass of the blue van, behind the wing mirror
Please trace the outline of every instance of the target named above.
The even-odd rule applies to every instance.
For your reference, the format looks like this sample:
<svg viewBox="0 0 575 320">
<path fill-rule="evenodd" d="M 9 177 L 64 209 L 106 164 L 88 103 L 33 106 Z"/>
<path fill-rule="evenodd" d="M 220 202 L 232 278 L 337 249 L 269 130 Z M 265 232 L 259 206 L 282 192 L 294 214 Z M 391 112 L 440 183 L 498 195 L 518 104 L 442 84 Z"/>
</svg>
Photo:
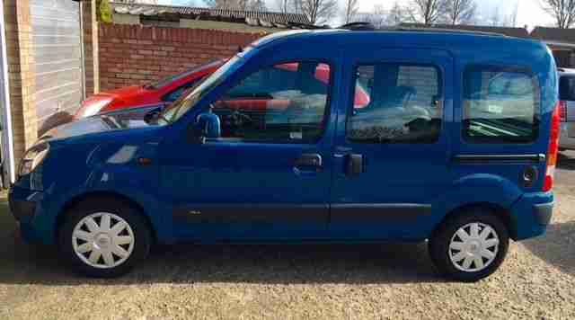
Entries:
<svg viewBox="0 0 575 320">
<path fill-rule="evenodd" d="M 313 143 L 323 134 L 330 66 L 293 62 L 264 67 L 214 102 L 221 138 Z"/>
</svg>

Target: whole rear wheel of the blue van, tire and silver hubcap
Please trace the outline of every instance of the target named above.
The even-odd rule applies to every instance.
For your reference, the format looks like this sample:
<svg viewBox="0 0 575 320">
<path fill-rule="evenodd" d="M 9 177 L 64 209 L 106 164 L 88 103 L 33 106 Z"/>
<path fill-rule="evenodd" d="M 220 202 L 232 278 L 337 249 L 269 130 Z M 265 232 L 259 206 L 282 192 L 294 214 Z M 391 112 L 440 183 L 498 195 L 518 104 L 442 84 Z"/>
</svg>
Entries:
<svg viewBox="0 0 575 320">
<path fill-rule="evenodd" d="M 429 254 L 438 270 L 465 282 L 482 280 L 497 271 L 508 247 L 507 227 L 483 209 L 448 218 L 429 239 Z"/>
</svg>

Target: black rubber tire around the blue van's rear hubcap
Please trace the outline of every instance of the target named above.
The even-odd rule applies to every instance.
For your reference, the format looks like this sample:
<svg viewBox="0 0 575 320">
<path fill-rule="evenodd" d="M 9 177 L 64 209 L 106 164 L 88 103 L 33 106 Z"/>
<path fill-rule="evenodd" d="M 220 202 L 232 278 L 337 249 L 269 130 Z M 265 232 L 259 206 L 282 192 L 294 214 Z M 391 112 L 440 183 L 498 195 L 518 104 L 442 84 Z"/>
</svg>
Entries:
<svg viewBox="0 0 575 320">
<path fill-rule="evenodd" d="M 455 262 L 451 261 L 449 245 L 459 228 L 472 223 L 487 225 L 495 230 L 499 238 L 499 247 L 495 258 L 484 269 L 462 271 L 456 267 Z M 469 209 L 459 212 L 454 217 L 447 218 L 431 236 L 428 245 L 431 260 L 438 268 L 438 271 L 453 280 L 474 282 L 490 276 L 491 273 L 499 269 L 508 252 L 509 231 L 501 219 L 490 210 Z"/>
</svg>

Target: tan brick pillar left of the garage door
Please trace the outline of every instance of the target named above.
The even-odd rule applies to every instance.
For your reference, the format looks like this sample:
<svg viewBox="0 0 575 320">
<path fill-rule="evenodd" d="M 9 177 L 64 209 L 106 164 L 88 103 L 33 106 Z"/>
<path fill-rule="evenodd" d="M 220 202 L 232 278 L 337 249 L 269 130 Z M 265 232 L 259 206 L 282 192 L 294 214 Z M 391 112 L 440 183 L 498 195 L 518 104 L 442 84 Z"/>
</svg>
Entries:
<svg viewBox="0 0 575 320">
<path fill-rule="evenodd" d="M 38 138 L 30 0 L 4 0 L 8 83 L 16 162 Z"/>
</svg>

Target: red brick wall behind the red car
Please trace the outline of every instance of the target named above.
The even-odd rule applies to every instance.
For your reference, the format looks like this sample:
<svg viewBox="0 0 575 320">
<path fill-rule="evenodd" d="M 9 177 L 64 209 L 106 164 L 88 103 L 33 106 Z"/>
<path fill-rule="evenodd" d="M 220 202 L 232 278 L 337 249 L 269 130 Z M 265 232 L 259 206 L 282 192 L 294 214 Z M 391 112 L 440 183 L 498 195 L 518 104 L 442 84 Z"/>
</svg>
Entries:
<svg viewBox="0 0 575 320">
<path fill-rule="evenodd" d="M 230 57 L 263 33 L 101 23 L 98 35 L 104 91 L 146 84 L 213 58 Z"/>
</svg>

